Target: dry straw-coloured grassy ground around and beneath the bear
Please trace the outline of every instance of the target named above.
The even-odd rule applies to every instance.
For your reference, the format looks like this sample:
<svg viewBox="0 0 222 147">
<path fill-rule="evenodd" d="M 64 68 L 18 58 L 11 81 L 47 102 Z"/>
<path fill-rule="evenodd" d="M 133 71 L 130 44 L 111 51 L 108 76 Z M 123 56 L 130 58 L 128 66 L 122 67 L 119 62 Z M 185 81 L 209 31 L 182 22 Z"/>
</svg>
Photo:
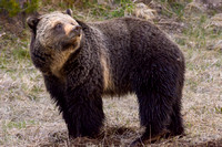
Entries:
<svg viewBox="0 0 222 147">
<path fill-rule="evenodd" d="M 186 59 L 182 109 L 186 136 L 152 146 L 221 146 L 222 53 L 208 50 L 222 39 L 221 28 L 211 25 L 213 14 L 189 13 L 183 8 L 186 14 L 167 10 L 171 15 L 165 18 L 163 12 L 155 23 L 180 45 Z M 91 15 L 83 19 L 90 20 Z M 31 63 L 29 33 L 26 30 L 18 38 L 6 32 L 0 36 L 0 146 L 127 146 L 141 135 L 137 97 L 127 95 L 104 97 L 103 137 L 69 140 L 65 124 Z"/>
</svg>

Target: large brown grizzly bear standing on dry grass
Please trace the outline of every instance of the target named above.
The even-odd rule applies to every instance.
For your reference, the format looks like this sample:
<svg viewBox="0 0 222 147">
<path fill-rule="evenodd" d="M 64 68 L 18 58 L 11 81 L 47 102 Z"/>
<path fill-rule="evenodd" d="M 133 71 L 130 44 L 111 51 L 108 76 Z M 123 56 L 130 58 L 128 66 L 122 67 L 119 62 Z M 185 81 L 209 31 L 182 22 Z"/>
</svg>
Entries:
<svg viewBox="0 0 222 147">
<path fill-rule="evenodd" d="M 104 113 L 102 96 L 134 93 L 140 139 L 181 135 L 184 57 L 179 46 L 149 21 L 118 18 L 82 22 L 71 11 L 28 19 L 30 54 L 70 137 L 94 137 Z"/>
</svg>

